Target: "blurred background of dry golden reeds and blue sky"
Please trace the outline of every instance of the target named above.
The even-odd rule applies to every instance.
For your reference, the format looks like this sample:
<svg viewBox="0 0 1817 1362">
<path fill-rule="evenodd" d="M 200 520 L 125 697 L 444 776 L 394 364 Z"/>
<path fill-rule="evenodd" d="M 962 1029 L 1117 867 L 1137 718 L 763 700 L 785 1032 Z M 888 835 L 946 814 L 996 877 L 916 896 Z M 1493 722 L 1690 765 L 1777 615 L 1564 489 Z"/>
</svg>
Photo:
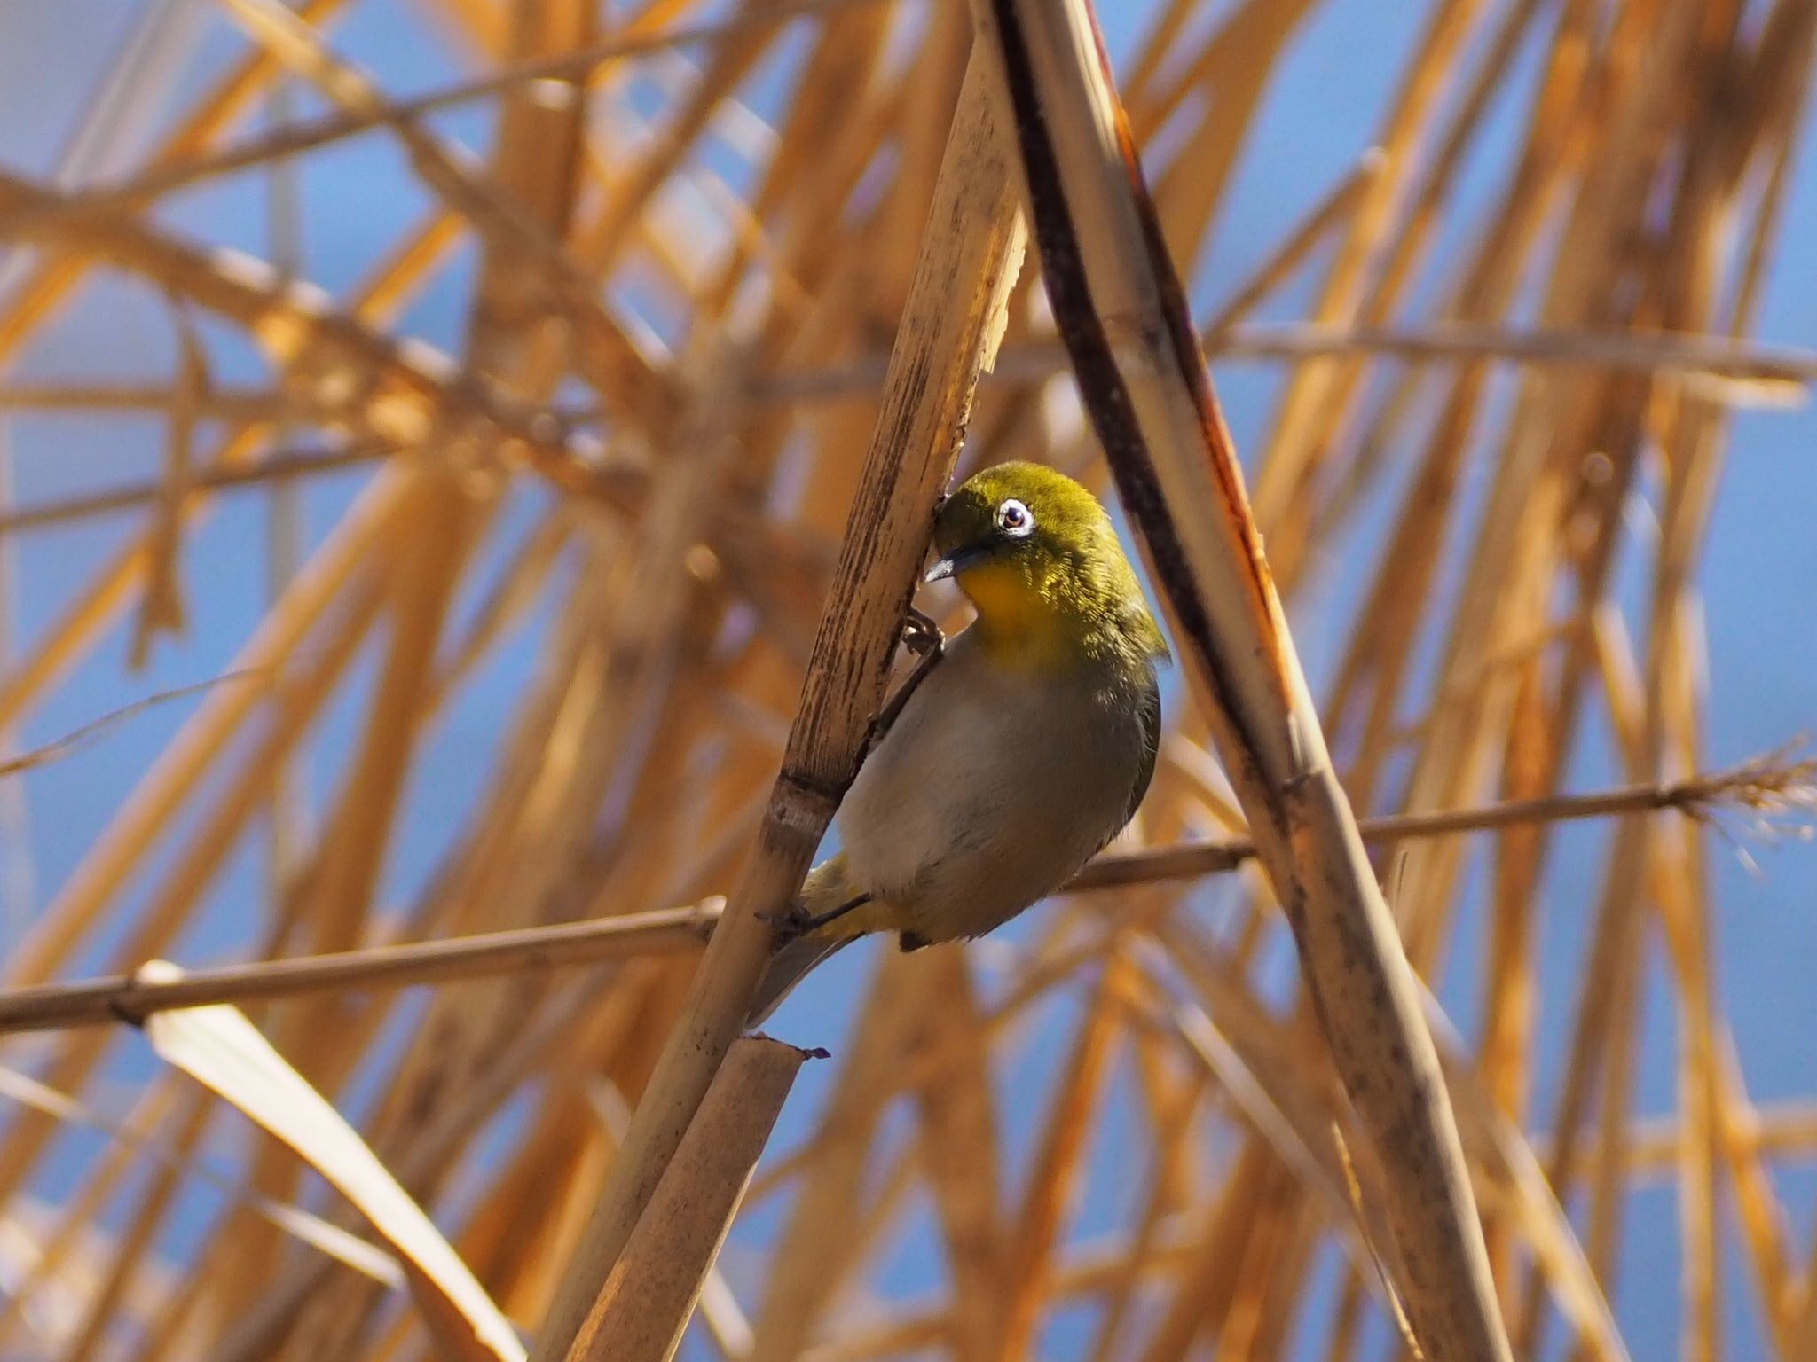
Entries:
<svg viewBox="0 0 1817 1362">
<path fill-rule="evenodd" d="M 1717 772 L 1817 705 L 1817 354 L 1753 340 L 1817 341 L 1817 4 L 1099 9 L 1515 1353 L 1810 1362 L 1817 866 L 1737 870 L 1808 772 Z M 520 1326 L 769 797 L 970 33 L 956 0 L 0 5 L 0 725 L 222 677 L 0 786 L 5 988 L 638 915 L 478 981 L 367 986 L 427 977 L 403 950 L 209 993 Z M 1034 269 L 965 454 L 1001 458 L 1108 481 Z M 1168 701 L 1123 852 L 1243 832 Z M 1394 1357 L 1343 1095 L 1230 861 L 816 977 L 776 1030 L 832 1057 L 683 1357 Z M 358 1151 L 329 1189 L 211 1091 L 320 1135 L 307 1090 L 113 1015 L 0 997 L 89 1022 L 0 1055 L 0 1357 L 449 1355 Z"/>
</svg>

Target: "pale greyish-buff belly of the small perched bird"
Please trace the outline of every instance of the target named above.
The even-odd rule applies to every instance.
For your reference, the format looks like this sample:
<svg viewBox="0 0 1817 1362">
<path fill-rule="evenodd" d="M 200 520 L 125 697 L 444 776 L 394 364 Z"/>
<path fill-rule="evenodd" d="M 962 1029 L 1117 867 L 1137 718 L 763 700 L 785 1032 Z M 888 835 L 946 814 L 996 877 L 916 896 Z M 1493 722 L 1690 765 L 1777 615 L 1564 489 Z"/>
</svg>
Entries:
<svg viewBox="0 0 1817 1362">
<path fill-rule="evenodd" d="M 927 941 L 992 930 L 1121 828 L 1145 734 L 1090 685 L 1028 685 L 948 657 L 839 814 L 850 879 Z"/>
</svg>

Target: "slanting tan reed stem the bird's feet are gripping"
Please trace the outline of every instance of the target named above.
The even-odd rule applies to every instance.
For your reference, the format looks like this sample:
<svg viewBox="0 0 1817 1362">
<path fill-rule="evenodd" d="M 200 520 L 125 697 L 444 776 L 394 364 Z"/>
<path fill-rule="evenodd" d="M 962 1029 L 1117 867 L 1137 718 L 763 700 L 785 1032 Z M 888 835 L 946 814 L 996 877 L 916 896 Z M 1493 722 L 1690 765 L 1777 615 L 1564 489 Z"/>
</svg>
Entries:
<svg viewBox="0 0 1817 1362">
<path fill-rule="evenodd" d="M 996 127 L 988 60 L 967 65 L 881 409 L 865 450 L 801 705 L 743 877 L 638 1102 L 620 1157 L 556 1288 L 534 1362 L 567 1357 L 745 1024 L 774 944 L 769 915 L 801 890 L 858 770 L 896 641 L 952 476 L 978 374 L 1003 336 L 1023 227 Z"/>
</svg>

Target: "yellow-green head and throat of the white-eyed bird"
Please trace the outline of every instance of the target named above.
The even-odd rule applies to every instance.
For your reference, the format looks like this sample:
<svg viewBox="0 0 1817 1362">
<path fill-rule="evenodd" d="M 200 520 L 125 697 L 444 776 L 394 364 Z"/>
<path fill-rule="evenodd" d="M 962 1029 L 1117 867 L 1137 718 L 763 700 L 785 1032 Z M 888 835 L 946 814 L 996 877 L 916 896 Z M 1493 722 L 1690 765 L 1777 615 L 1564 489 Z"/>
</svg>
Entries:
<svg viewBox="0 0 1817 1362">
<path fill-rule="evenodd" d="M 1110 516 L 1061 472 L 1039 463 L 978 470 L 939 508 L 934 552 L 927 579 L 958 583 L 1003 661 L 1167 652 Z"/>
</svg>

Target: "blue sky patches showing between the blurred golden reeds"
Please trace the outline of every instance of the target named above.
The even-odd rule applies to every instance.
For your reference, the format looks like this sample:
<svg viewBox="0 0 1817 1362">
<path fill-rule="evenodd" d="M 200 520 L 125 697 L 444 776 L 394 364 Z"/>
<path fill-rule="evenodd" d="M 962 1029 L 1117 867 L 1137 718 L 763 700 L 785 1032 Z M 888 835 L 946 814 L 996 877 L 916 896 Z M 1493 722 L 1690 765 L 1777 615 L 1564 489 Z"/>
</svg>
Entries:
<svg viewBox="0 0 1817 1362">
<path fill-rule="evenodd" d="M 1114 54 L 1127 54 L 1141 31 L 1150 0 L 1101 5 Z M 116 47 L 140 5 L 129 0 L 62 0 L 56 5 L 31 0 L 0 0 L 0 24 L 9 36 L 0 44 L 0 162 L 44 174 L 67 143 L 91 82 L 104 56 Z M 205 31 L 191 69 L 211 69 L 231 51 L 223 25 L 194 7 Z M 1272 84 L 1261 122 L 1237 169 L 1226 211 L 1203 269 L 1192 280 L 1196 305 L 1208 309 L 1243 280 L 1279 242 L 1281 234 L 1339 178 L 1368 145 L 1381 122 L 1385 93 L 1397 80 L 1410 49 L 1423 5 L 1383 5 L 1372 0 L 1330 0 L 1292 42 L 1286 62 Z M 423 89 L 452 78 L 460 58 L 440 35 L 422 22 L 422 9 L 402 0 L 365 0 L 336 29 L 342 51 L 354 53 L 378 71 L 392 89 Z M 47 60 L 49 58 L 49 60 Z M 1530 74 L 1532 64 L 1524 67 Z M 1519 87 L 1519 80 L 1515 82 Z M 196 85 L 200 89 L 200 82 Z M 307 105 L 305 105 L 307 107 Z M 1499 183 L 1508 145 L 1523 116 L 1519 98 L 1503 98 L 1465 176 L 1465 200 L 1483 202 Z M 438 120 L 451 136 L 474 145 L 485 142 L 483 113 L 458 113 Z M 147 123 L 145 134 L 154 131 Z M 1799 171 L 1786 211 L 1784 247 L 1773 265 L 1761 312 L 1759 334 L 1775 343 L 1817 347 L 1817 272 L 1802 262 L 1802 242 L 1817 223 L 1817 167 L 1813 142 L 1801 142 Z M 125 149 L 127 154 L 133 147 Z M 409 222 L 422 196 L 409 187 L 402 158 L 380 138 L 363 138 L 314 156 L 303 171 L 309 205 L 305 272 L 331 291 L 343 291 L 371 263 L 396 231 Z M 167 207 L 178 229 L 205 232 L 251 251 L 263 249 L 262 189 L 256 182 L 185 194 Z M 467 301 L 467 269 L 456 265 L 412 307 L 405 327 L 431 341 L 452 345 Z M 1263 316 L 1292 320 L 1308 298 L 1305 283 L 1272 300 Z M 254 381 L 258 367 L 236 340 L 209 331 L 220 378 Z M 56 321 L 15 370 L 18 380 L 93 376 L 109 369 L 144 378 L 169 372 L 173 347 L 158 300 L 131 289 L 89 294 L 84 305 Z M 1256 449 L 1274 412 L 1279 369 L 1270 365 L 1219 365 L 1219 392 L 1237 443 Z M 1708 657 L 1708 759 L 1726 765 L 1773 748 L 1810 730 L 1817 716 L 1817 630 L 1810 625 L 1810 601 L 1817 596 L 1817 463 L 1810 409 L 1746 412 L 1732 427 L 1728 467 L 1712 525 L 1699 581 L 1704 592 Z M 16 463 L 22 501 L 104 487 L 124 478 L 156 476 L 162 443 L 145 421 L 71 423 L 49 418 L 18 418 L 5 423 Z M 314 536 L 333 525 L 358 487 L 358 476 L 325 479 L 311 489 L 307 519 Z M 529 523 L 534 494 L 514 510 L 516 523 Z M 91 563 L 118 543 L 122 521 L 31 536 L 15 559 L 11 596 L 15 637 L 35 637 L 87 576 Z M 51 739 L 85 719 L 142 694 L 205 677 L 222 670 L 263 608 L 262 561 L 263 512 L 253 498 L 227 498 L 185 543 L 184 574 L 191 583 L 194 614 L 189 634 L 154 652 L 151 666 L 129 676 L 124 670 L 125 636 L 109 643 L 42 705 L 24 730 L 24 741 Z M 1368 545 L 1359 545 L 1366 550 Z M 1363 576 L 1345 570 L 1328 554 L 1319 588 L 1296 603 L 1294 625 L 1317 681 L 1328 672 L 1334 645 L 1343 632 L 1343 612 Z M 442 832 L 460 821 L 476 794 L 472 754 L 491 752 L 503 732 L 511 705 L 536 659 L 536 621 L 521 641 L 501 652 L 485 674 L 460 696 L 425 752 L 425 766 L 411 794 L 411 817 L 391 868 L 392 890 L 407 893 L 431 868 Z M 334 750 L 345 750 L 360 716 L 360 688 L 352 688 L 329 721 L 331 739 L 314 772 L 316 788 L 331 788 Z M 16 930 L 33 906 L 42 906 L 91 844 L 94 830 L 131 790 L 134 779 L 176 732 L 193 705 L 169 705 L 109 734 L 82 754 L 38 772 L 25 781 L 29 821 L 29 881 L 16 859 L 0 873 L 7 926 Z M 340 735 L 342 741 L 336 741 Z M 1610 779 L 1597 755 L 1603 734 L 1592 726 L 1574 785 Z M 1604 830 L 1581 828 L 1561 835 L 1543 895 L 1544 977 L 1543 1024 L 1555 1055 L 1559 1031 L 1579 986 L 1577 962 L 1583 932 L 1595 893 L 1595 868 Z M 1717 883 L 1717 977 L 1723 1002 L 1735 1030 L 1737 1050 L 1750 1090 L 1761 1100 L 1817 1093 L 1817 993 L 1810 962 L 1817 959 L 1817 913 L 1810 884 L 1817 852 L 1806 844 L 1750 848 L 1759 872 L 1721 841 L 1712 843 Z M 247 848 L 222 879 L 214 904 L 218 917 L 202 939 L 189 943 L 207 953 L 218 941 L 238 939 L 234 913 L 260 893 L 258 848 Z M 220 937 L 214 937 L 220 932 Z M 1465 930 L 1461 962 L 1481 957 L 1479 943 Z M 1657 952 L 1655 952 L 1657 961 Z M 845 1012 L 861 988 L 870 961 L 858 952 L 832 966 L 810 1001 L 798 1001 L 783 1013 L 781 1030 L 818 1030 Z M 1468 968 L 1454 972 L 1452 988 L 1468 993 L 1475 979 Z M 1461 995 L 1461 993 L 1459 993 Z M 1675 1022 L 1652 990 L 1644 1031 L 1639 1106 L 1664 1113 L 1675 1106 Z M 807 1010 L 807 1012 L 803 1012 Z M 1466 1026 L 1474 1019 L 1461 1015 Z M 1048 1022 L 1043 1022 L 1047 1026 Z M 1063 1024 L 1061 1017 L 1050 1022 Z M 1063 1033 L 1063 1030 L 1056 1031 Z M 1050 1055 L 1047 1057 L 1052 1059 Z M 785 1117 L 783 1144 L 812 1119 L 816 1097 L 834 1066 L 810 1068 L 803 1090 Z M 1555 1075 L 1543 1075 L 1550 1082 Z M 1039 1102 L 1047 1084 L 1039 1048 L 1007 1075 L 1014 1102 Z M 1548 1110 L 1543 1102 L 1541 1110 Z M 1127 1133 L 1125 1133 L 1127 1135 Z M 1018 1133 L 1010 1130 L 1012 1142 Z M 1119 1135 L 1105 1131 L 1101 1159 L 1116 1159 Z M 1094 1179 L 1094 1193 L 1081 1211 L 1110 1222 L 1117 1211 L 1107 1179 Z M 1793 1170 L 1781 1179 L 1793 1215 L 1793 1242 L 1810 1240 L 1817 1175 Z M 741 1231 L 741 1242 L 761 1237 L 765 1215 Z M 1626 1268 L 1617 1291 L 1617 1311 L 1637 1358 L 1666 1357 L 1677 1340 L 1677 1224 L 1670 1195 L 1663 1189 L 1635 1200 L 1628 1220 Z M 734 1246 L 736 1262 L 736 1246 Z M 889 1284 L 907 1289 L 932 1286 L 925 1240 L 908 1235 L 887 1273 Z M 1753 1302 L 1741 1278 L 1732 1277 L 1724 1309 L 1741 1357 L 1755 1355 L 1759 1333 Z M 1076 1322 L 1057 1322 L 1043 1357 L 1068 1358 L 1088 1338 Z M 1310 1355 L 1310 1353 L 1308 1353 Z"/>
</svg>

